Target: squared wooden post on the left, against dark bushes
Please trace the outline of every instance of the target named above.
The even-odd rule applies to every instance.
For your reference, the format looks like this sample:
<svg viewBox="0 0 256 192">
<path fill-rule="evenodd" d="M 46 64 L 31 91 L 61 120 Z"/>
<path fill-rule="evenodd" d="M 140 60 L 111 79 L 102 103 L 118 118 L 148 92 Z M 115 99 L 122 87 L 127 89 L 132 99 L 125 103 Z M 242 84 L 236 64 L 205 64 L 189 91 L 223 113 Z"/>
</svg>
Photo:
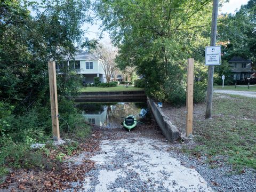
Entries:
<svg viewBox="0 0 256 192">
<path fill-rule="evenodd" d="M 55 61 L 48 61 L 53 140 L 60 139 Z"/>
</svg>

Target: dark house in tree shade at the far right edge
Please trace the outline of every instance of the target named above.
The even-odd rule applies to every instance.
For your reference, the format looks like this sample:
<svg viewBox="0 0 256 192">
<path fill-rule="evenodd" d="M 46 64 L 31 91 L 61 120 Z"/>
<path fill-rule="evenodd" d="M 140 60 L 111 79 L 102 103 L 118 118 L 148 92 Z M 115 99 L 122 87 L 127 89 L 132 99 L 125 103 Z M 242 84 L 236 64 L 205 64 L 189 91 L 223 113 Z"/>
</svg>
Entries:
<svg viewBox="0 0 256 192">
<path fill-rule="evenodd" d="M 244 80 L 251 78 L 255 71 L 252 70 L 252 61 L 241 57 L 233 57 L 230 61 L 231 72 L 234 80 Z"/>
</svg>

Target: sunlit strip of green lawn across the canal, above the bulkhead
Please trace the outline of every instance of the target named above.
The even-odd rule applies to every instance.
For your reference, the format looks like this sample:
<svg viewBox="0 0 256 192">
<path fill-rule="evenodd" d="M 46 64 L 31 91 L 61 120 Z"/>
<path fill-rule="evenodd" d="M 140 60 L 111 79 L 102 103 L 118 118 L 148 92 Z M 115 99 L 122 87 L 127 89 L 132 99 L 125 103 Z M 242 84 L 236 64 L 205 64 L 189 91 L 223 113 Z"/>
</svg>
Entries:
<svg viewBox="0 0 256 192">
<path fill-rule="evenodd" d="M 116 87 L 84 87 L 80 92 L 101 92 L 101 91 L 143 91 L 143 88 L 134 86 L 126 87 L 124 85 L 118 85 Z"/>
</svg>

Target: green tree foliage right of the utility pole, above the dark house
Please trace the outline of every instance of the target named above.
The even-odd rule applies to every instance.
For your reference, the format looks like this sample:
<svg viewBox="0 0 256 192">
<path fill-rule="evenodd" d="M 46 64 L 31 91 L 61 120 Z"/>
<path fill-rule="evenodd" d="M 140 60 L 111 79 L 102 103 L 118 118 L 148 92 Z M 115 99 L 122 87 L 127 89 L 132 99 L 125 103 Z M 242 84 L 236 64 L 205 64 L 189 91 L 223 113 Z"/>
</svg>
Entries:
<svg viewBox="0 0 256 192">
<path fill-rule="evenodd" d="M 255 0 L 250 0 L 235 14 L 222 14 L 219 17 L 217 38 L 225 53 L 223 59 L 240 56 L 256 62 L 255 9 Z"/>
</svg>

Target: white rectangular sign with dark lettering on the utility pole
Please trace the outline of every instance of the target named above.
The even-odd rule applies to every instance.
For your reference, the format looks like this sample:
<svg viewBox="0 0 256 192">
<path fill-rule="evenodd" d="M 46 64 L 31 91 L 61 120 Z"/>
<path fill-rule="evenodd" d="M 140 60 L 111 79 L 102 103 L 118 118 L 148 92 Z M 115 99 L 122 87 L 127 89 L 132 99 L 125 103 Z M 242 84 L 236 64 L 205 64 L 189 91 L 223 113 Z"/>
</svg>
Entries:
<svg viewBox="0 0 256 192">
<path fill-rule="evenodd" d="M 221 46 L 205 47 L 205 65 L 220 65 Z"/>
</svg>

